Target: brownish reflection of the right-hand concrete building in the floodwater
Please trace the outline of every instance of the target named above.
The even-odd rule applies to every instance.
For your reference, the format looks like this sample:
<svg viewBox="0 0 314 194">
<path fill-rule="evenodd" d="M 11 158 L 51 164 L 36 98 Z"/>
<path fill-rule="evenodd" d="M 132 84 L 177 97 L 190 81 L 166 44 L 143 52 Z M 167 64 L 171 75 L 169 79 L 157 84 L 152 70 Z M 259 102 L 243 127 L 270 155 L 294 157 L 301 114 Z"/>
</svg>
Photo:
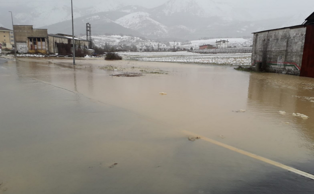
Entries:
<svg viewBox="0 0 314 194">
<path fill-rule="evenodd" d="M 314 79 L 253 73 L 249 83 L 248 109 L 270 117 L 280 116 L 279 111 L 286 111 L 285 118 L 314 141 L 314 119 L 294 119 L 292 116 L 292 113 L 301 113 L 314 118 L 314 103 L 306 99 L 314 97 L 313 89 Z"/>
</svg>

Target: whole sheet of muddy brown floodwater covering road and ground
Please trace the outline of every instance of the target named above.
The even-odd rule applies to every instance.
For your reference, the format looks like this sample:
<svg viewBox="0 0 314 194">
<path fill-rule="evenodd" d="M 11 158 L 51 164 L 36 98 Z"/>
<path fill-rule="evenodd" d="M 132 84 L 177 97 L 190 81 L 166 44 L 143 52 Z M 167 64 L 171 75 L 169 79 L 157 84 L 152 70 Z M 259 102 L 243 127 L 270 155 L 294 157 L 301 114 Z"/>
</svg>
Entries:
<svg viewBox="0 0 314 194">
<path fill-rule="evenodd" d="M 314 79 L 198 64 L 20 60 L 0 59 L 0 193 L 314 190 L 288 170 L 188 140 L 197 134 L 314 174 Z M 106 65 L 118 71 L 99 68 Z M 167 74 L 110 76 L 141 68 Z"/>
</svg>

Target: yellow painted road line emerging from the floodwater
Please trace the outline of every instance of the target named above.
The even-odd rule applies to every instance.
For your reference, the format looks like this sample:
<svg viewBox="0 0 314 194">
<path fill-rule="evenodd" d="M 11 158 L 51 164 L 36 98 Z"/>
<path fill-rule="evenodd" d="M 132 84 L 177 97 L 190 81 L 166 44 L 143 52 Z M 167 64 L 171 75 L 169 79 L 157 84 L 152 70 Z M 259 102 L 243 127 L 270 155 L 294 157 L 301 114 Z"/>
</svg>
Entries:
<svg viewBox="0 0 314 194">
<path fill-rule="evenodd" d="M 193 136 L 193 137 L 200 137 L 201 140 L 204 140 L 204 141 L 206 141 L 206 142 L 210 142 L 210 143 L 215 144 L 215 145 L 217 145 L 217 146 L 226 148 L 226 149 L 228 149 L 228 150 L 232 150 L 232 151 L 234 151 L 234 152 L 238 152 L 238 153 L 240 153 L 240 154 L 249 156 L 249 157 L 251 157 L 251 158 L 255 158 L 255 159 L 260 160 L 260 161 L 262 161 L 262 162 L 266 162 L 266 163 L 268 163 L 268 164 L 277 166 L 277 167 L 279 167 L 279 168 L 288 170 L 288 171 L 290 171 L 290 172 L 294 172 L 294 173 L 296 173 L 296 174 L 299 174 L 299 175 L 301 175 L 301 176 L 304 176 L 304 177 L 306 177 L 306 178 L 309 178 L 309 179 L 314 180 L 314 175 L 309 174 L 309 173 L 307 173 L 307 172 L 304 172 L 304 171 L 301 171 L 301 170 L 292 168 L 292 167 L 290 167 L 290 166 L 281 164 L 281 163 L 279 163 L 279 162 L 275 162 L 275 161 L 273 161 L 273 160 L 264 158 L 264 157 L 262 157 L 262 156 L 258 156 L 258 155 L 256 155 L 256 154 L 252 154 L 252 153 L 247 152 L 247 151 L 244 151 L 244 150 L 240 150 L 240 149 L 238 149 L 238 148 L 235 148 L 235 147 L 232 147 L 232 146 L 223 144 L 223 143 L 221 143 L 221 142 L 218 142 L 218 141 L 215 141 L 215 140 L 206 138 L 206 137 L 204 137 L 204 136 L 200 136 L 200 135 L 194 134 L 194 133 L 192 133 L 192 132 L 183 131 L 183 133 L 185 133 L 185 134 L 187 134 L 187 135 L 190 135 L 190 136 Z"/>
</svg>

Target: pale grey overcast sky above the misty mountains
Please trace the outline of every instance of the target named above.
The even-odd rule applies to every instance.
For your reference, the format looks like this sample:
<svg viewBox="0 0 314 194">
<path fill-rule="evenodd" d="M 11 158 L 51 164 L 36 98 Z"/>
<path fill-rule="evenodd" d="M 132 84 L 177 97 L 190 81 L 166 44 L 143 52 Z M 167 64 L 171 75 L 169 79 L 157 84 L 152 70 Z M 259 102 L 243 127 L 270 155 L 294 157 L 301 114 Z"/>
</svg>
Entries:
<svg viewBox="0 0 314 194">
<path fill-rule="evenodd" d="M 154 8 L 160 6 L 169 0 L 73 0 L 74 17 L 79 17 L 77 8 L 84 10 L 85 8 L 110 8 L 111 5 L 123 3 L 125 5 L 140 5 L 146 8 Z M 189 0 L 179 0 L 189 1 Z M 192 0 L 191 0 L 192 1 Z M 232 8 L 237 8 L 240 12 L 248 13 L 248 18 L 254 20 L 273 19 L 278 17 L 293 17 L 298 14 L 303 14 L 299 18 L 306 18 L 314 12 L 314 0 L 195 0 L 201 4 L 205 10 L 210 10 L 210 2 L 227 3 Z M 30 23 L 30 18 L 43 17 L 45 20 L 51 20 L 51 17 L 61 16 L 64 12 L 70 13 L 70 0 L 0 0 L 0 26 L 10 27 L 11 15 L 8 11 L 14 12 L 16 21 L 21 24 Z M 114 7 L 114 6 L 113 6 Z M 36 9 L 32 9 L 36 8 Z M 239 9 L 238 9 L 239 8 Z M 54 12 L 51 12 L 54 10 Z M 105 11 L 105 10 L 103 10 Z M 23 15 L 21 14 L 23 13 Z M 60 13 L 60 14 L 59 14 Z M 44 16 L 44 15 L 50 16 Z M 45 18 L 47 17 L 47 18 Z M 68 15 L 66 15 L 68 18 Z M 25 19 L 25 21 L 24 21 Z M 69 18 L 70 19 L 70 18 Z M 32 23 L 35 26 L 42 24 Z"/>
</svg>

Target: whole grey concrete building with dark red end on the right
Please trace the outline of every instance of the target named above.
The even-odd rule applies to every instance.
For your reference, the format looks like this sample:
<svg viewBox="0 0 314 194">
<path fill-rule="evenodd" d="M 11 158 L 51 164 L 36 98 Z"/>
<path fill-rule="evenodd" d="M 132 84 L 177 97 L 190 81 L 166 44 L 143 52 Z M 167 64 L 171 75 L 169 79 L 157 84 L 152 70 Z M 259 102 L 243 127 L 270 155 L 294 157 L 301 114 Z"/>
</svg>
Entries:
<svg viewBox="0 0 314 194">
<path fill-rule="evenodd" d="M 314 13 L 301 25 L 253 34 L 252 65 L 258 71 L 314 78 Z"/>
</svg>

